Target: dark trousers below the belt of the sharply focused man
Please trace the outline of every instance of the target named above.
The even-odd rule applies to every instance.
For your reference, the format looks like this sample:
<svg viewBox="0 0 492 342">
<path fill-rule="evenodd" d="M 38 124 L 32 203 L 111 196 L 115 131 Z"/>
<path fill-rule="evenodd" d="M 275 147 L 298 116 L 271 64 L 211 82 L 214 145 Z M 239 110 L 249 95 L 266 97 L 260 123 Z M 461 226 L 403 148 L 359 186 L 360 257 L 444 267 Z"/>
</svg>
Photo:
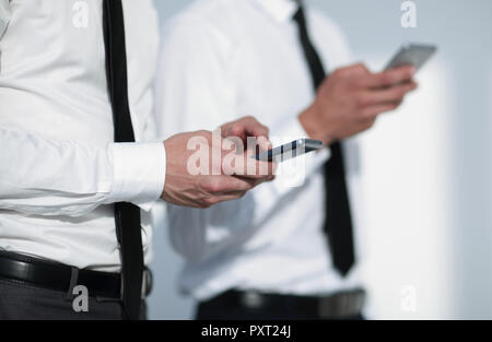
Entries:
<svg viewBox="0 0 492 342">
<path fill-rule="evenodd" d="M 87 312 L 75 312 L 72 294 L 0 279 L 0 320 L 120 320 L 119 300 L 89 297 Z M 141 319 L 147 319 L 142 300 Z"/>
</svg>

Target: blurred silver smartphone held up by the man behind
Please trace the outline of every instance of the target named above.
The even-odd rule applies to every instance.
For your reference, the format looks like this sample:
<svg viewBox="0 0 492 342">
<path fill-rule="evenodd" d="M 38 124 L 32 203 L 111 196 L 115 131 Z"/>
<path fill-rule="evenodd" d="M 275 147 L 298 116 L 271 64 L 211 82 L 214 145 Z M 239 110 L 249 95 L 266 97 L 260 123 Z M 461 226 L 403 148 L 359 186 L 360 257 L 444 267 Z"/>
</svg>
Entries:
<svg viewBox="0 0 492 342">
<path fill-rule="evenodd" d="M 436 51 L 437 47 L 434 45 L 407 43 L 396 54 L 385 70 L 407 64 L 411 64 L 419 70 Z"/>
</svg>

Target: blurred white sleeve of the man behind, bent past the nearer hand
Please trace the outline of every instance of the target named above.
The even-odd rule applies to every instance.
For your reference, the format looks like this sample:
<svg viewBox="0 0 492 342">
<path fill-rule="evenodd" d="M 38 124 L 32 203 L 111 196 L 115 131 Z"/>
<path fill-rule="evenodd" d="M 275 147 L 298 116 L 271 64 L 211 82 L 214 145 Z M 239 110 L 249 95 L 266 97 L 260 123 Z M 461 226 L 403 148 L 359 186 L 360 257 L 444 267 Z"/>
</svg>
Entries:
<svg viewBox="0 0 492 342">
<path fill-rule="evenodd" d="M 157 71 L 157 121 L 162 138 L 180 131 L 214 129 L 244 114 L 238 108 L 237 89 L 230 70 L 234 43 L 229 42 L 209 22 L 184 17 L 171 22 L 163 32 Z M 306 137 L 297 118 L 276 128 L 272 135 L 295 140 Z M 226 246 L 250 236 L 258 222 L 274 210 L 282 197 L 295 191 L 294 184 L 319 169 L 329 151 L 306 155 L 294 173 L 279 175 L 243 199 L 220 203 L 207 210 L 169 205 L 168 220 L 174 247 L 190 260 L 206 258 Z M 302 158 L 298 158 L 302 160 Z M 296 178 L 297 177 L 297 178 Z"/>
</svg>

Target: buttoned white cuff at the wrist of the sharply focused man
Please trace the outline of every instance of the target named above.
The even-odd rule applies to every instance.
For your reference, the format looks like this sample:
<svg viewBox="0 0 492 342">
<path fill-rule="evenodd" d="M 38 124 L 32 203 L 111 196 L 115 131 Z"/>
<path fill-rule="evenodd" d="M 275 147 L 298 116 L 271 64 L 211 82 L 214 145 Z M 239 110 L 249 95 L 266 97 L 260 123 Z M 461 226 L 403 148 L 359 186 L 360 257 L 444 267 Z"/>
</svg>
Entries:
<svg viewBox="0 0 492 342">
<path fill-rule="evenodd" d="M 109 201 L 130 202 L 150 211 L 162 196 L 166 151 L 162 142 L 110 145 L 114 176 Z"/>
</svg>

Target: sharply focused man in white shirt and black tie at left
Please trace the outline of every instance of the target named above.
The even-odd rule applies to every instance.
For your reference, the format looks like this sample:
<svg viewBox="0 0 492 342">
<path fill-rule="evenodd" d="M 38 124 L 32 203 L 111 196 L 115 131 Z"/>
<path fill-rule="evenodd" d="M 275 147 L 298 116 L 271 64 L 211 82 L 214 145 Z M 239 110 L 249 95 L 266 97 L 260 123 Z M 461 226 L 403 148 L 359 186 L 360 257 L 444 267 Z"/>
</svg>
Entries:
<svg viewBox="0 0 492 342">
<path fill-rule="evenodd" d="M 144 318 L 153 203 L 208 208 L 271 179 L 226 176 L 211 132 L 156 139 L 157 27 L 151 0 L 0 0 L 0 319 Z M 187 170 L 198 137 L 210 176 Z"/>
</svg>

